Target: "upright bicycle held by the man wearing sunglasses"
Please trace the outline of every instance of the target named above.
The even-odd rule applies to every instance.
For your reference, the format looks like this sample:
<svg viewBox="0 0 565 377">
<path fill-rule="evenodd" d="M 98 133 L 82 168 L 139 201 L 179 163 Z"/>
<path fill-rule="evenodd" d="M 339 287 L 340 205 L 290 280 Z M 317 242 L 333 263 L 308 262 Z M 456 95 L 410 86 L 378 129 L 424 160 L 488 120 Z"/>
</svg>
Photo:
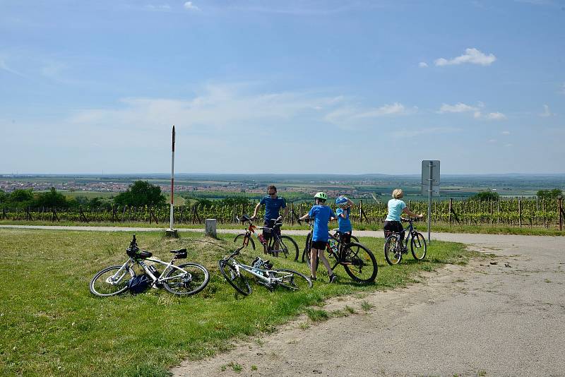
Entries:
<svg viewBox="0 0 565 377">
<path fill-rule="evenodd" d="M 280 227 L 283 225 L 282 221 L 278 222 L 276 219 L 272 219 L 274 225 L 272 228 L 270 228 L 258 227 L 254 225 L 249 215 L 237 217 L 237 220 L 240 222 L 247 222 L 249 226 L 247 227 L 247 229 L 245 229 L 245 233 L 237 234 L 237 236 L 234 238 L 234 242 L 242 241 L 244 247 L 251 245 L 251 249 L 255 250 L 255 241 L 253 240 L 253 236 L 255 236 L 263 245 L 263 249 L 266 251 L 266 253 L 277 254 L 282 252 L 285 258 L 287 258 L 287 256 L 290 254 L 290 256 L 295 257 L 295 261 L 298 260 L 299 252 L 296 241 L 291 237 L 281 236 L 279 234 L 280 232 L 278 232 L 278 229 L 280 229 Z M 255 232 L 255 229 L 266 230 L 267 232 L 270 232 L 271 237 L 266 240 L 263 237 L 263 234 L 257 234 Z M 275 249 L 275 246 L 278 246 L 277 249 Z"/>
</svg>

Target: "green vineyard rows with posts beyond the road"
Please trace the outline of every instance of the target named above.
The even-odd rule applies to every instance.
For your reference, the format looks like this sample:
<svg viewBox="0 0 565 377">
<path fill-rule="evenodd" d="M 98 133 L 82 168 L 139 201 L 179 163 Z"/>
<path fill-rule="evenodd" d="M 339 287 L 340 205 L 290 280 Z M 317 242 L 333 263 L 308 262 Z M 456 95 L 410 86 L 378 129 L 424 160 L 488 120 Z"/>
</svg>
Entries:
<svg viewBox="0 0 565 377">
<path fill-rule="evenodd" d="M 408 201 L 412 212 L 427 214 L 428 203 Z M 311 203 L 290 203 L 287 224 L 295 224 L 298 217 L 311 208 Z M 176 224 L 201 224 L 215 218 L 220 224 L 237 222 L 236 216 L 253 213 L 255 204 L 225 205 L 222 203 L 179 205 L 174 208 Z M 375 224 L 386 217 L 386 203 L 359 201 L 351 213 L 354 222 Z M 450 199 L 432 202 L 432 223 L 453 225 L 508 225 L 520 227 L 554 227 L 565 216 L 561 199 L 511 198 L 499 201 Z M 259 215 L 262 217 L 263 212 Z M 112 208 L 2 208 L 0 220 L 53 221 L 53 222 L 169 222 L 169 207 Z"/>
</svg>

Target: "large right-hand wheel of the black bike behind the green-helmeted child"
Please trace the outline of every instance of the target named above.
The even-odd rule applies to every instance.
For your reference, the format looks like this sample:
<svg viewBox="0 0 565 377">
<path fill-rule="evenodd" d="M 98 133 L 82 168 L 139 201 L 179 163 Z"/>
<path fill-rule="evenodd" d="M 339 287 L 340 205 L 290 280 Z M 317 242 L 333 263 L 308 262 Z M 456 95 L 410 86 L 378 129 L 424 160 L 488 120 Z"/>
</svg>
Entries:
<svg viewBox="0 0 565 377">
<path fill-rule="evenodd" d="M 343 267 L 347 275 L 356 282 L 374 282 L 379 267 L 367 246 L 351 242 L 343 250 Z"/>
</svg>

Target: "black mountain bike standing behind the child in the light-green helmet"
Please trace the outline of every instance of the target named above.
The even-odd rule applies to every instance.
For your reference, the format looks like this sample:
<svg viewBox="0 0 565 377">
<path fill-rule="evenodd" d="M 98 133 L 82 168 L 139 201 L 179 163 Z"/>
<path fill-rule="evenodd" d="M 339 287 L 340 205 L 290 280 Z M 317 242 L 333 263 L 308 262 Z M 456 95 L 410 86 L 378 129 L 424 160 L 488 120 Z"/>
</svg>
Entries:
<svg viewBox="0 0 565 377">
<path fill-rule="evenodd" d="M 313 228 L 313 219 L 305 220 L 307 224 Z M 335 229 L 334 229 L 335 230 Z M 337 237 L 336 237 L 337 236 Z M 335 259 L 335 264 L 332 270 L 338 265 L 343 265 L 345 272 L 356 282 L 374 282 L 376 279 L 376 274 L 378 273 L 379 267 L 376 265 L 376 259 L 373 253 L 364 246 L 356 241 L 350 242 L 349 244 L 343 244 L 339 238 L 339 232 L 334 234 L 329 234 L 328 241 L 326 242 L 326 251 L 328 251 L 328 258 Z M 352 239 L 354 239 L 352 237 Z M 307 237 L 307 243 L 304 247 L 304 253 L 302 255 L 302 260 L 306 261 L 308 267 L 310 267 L 310 253 L 311 253 L 311 232 L 309 237 Z M 319 259 L 316 256 L 316 270 L 318 269 Z"/>
</svg>

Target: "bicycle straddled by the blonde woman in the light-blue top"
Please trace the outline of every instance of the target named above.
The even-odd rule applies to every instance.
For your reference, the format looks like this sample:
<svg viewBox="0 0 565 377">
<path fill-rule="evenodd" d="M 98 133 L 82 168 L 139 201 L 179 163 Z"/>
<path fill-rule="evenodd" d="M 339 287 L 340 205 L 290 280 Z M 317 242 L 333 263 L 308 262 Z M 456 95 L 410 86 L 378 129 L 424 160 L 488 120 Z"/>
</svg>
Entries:
<svg viewBox="0 0 565 377">
<path fill-rule="evenodd" d="M 386 262 L 389 265 L 400 263 L 403 254 L 408 253 L 408 244 L 410 244 L 412 256 L 417 261 L 422 261 L 426 257 L 427 245 L 422 233 L 418 232 L 412 224 L 417 219 L 402 218 L 400 220 L 408 222 L 408 229 L 404 230 L 405 239 L 400 241 L 400 232 L 385 231 L 384 257 Z"/>
</svg>

